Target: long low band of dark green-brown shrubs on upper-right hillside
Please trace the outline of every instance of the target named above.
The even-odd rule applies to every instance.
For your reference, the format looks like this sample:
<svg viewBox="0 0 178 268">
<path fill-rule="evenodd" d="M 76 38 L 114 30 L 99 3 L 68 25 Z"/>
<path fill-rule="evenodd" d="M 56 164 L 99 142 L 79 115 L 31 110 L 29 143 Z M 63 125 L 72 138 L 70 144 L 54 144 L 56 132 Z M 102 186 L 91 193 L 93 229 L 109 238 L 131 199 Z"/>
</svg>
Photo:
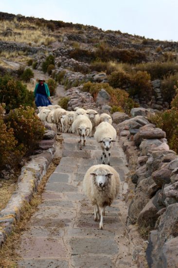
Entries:
<svg viewBox="0 0 178 268">
<path fill-rule="evenodd" d="M 174 62 L 147 62 L 137 64 L 136 71 L 146 71 L 150 74 L 151 80 L 163 79 L 178 72 L 178 64 Z"/>
</svg>

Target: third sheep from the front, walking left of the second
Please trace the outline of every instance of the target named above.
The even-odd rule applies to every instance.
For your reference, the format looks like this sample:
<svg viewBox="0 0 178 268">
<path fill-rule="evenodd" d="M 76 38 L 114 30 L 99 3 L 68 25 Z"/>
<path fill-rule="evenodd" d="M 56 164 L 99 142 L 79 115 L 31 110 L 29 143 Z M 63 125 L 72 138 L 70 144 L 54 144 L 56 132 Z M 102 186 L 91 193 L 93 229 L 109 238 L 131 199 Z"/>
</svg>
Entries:
<svg viewBox="0 0 178 268">
<path fill-rule="evenodd" d="M 76 133 L 80 136 L 80 150 L 82 150 L 82 137 L 83 137 L 83 145 L 86 143 L 86 136 L 89 135 L 89 132 L 92 129 L 92 124 L 89 118 L 85 115 L 78 115 L 77 119 L 71 125 L 72 132 Z"/>
</svg>

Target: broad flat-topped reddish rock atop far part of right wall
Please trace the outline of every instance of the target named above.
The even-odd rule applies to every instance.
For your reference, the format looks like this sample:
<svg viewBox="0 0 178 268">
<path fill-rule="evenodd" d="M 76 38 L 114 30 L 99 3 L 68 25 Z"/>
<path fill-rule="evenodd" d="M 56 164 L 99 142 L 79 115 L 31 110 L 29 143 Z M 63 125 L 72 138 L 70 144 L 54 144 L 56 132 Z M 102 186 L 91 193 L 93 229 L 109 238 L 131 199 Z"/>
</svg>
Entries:
<svg viewBox="0 0 178 268">
<path fill-rule="evenodd" d="M 140 145 L 143 139 L 162 139 L 166 137 L 165 131 L 160 128 L 145 127 L 135 134 L 134 142 L 136 145 Z"/>
</svg>

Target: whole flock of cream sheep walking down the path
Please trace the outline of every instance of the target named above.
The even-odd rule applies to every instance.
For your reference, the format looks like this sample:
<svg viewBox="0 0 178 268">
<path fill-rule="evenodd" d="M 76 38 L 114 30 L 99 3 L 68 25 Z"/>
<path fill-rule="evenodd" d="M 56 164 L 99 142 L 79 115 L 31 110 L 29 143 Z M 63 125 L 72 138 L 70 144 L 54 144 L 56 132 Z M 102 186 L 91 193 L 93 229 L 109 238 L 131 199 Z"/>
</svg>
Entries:
<svg viewBox="0 0 178 268">
<path fill-rule="evenodd" d="M 86 144 L 86 137 L 93 137 L 102 148 L 102 165 L 91 166 L 85 174 L 83 189 L 92 205 L 94 205 L 94 220 L 99 220 L 99 207 L 101 208 L 100 229 L 103 229 L 103 216 L 106 206 L 110 206 L 117 196 L 120 186 L 119 174 L 110 166 L 112 143 L 116 141 L 116 130 L 111 125 L 111 117 L 97 111 L 76 107 L 74 111 L 66 111 L 59 105 L 38 107 L 38 117 L 47 123 L 57 125 L 60 132 L 75 133 L 80 137 L 80 150 Z M 108 161 L 105 165 L 105 158 Z"/>
</svg>

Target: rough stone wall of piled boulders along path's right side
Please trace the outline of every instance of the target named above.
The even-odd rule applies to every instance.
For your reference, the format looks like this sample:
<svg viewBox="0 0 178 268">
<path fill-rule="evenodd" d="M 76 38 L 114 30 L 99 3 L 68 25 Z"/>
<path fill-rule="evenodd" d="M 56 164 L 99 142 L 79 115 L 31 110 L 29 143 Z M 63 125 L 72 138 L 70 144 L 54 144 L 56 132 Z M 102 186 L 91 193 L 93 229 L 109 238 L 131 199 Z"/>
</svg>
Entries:
<svg viewBox="0 0 178 268">
<path fill-rule="evenodd" d="M 127 224 L 151 230 L 146 249 L 149 268 L 178 267 L 178 155 L 170 150 L 165 132 L 143 115 L 116 128 L 131 171 Z"/>
</svg>

